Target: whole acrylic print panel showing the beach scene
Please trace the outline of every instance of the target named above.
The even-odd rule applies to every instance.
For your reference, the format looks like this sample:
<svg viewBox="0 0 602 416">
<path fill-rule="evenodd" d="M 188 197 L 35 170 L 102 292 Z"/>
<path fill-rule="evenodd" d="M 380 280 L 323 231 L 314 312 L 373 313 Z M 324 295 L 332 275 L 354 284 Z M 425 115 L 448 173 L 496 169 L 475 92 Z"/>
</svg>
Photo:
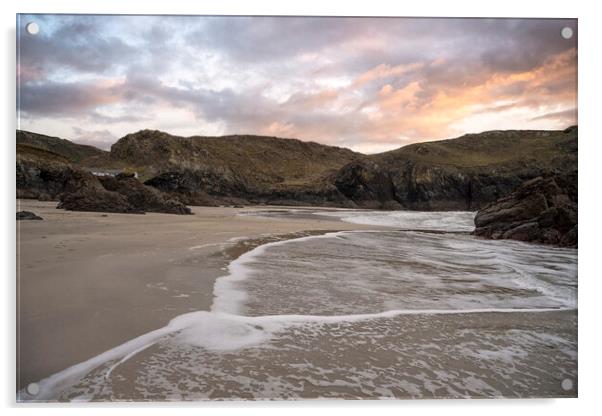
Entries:
<svg viewBox="0 0 602 416">
<path fill-rule="evenodd" d="M 17 16 L 18 401 L 577 396 L 577 21 Z"/>
</svg>

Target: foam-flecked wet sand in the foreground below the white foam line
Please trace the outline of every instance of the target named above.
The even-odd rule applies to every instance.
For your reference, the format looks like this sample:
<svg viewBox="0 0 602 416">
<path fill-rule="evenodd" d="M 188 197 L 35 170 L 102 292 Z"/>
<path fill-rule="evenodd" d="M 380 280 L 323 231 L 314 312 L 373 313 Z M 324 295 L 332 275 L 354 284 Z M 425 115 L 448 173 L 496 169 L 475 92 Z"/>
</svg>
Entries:
<svg viewBox="0 0 602 416">
<path fill-rule="evenodd" d="M 577 397 L 576 331 L 576 311 L 558 311 L 293 326 L 226 352 L 165 337 L 99 366 L 57 400 Z"/>
</svg>

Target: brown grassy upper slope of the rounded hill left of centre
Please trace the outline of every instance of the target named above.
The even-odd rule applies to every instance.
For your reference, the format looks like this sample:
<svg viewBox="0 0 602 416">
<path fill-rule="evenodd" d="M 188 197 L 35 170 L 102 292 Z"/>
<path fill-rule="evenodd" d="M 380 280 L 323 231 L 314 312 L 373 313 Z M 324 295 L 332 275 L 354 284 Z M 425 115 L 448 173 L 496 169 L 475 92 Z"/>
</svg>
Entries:
<svg viewBox="0 0 602 416">
<path fill-rule="evenodd" d="M 265 136 L 178 137 L 156 130 L 128 134 L 111 146 L 111 159 L 143 177 L 170 170 L 211 170 L 247 181 L 305 185 L 363 155 L 349 149 Z"/>
</svg>

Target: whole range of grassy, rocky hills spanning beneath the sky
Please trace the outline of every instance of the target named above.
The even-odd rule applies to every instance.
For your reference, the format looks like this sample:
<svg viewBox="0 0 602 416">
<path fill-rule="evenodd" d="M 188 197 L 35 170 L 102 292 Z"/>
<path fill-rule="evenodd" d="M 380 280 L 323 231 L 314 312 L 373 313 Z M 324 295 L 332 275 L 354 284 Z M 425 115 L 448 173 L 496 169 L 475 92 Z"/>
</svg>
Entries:
<svg viewBox="0 0 602 416">
<path fill-rule="evenodd" d="M 21 132 L 27 140 L 17 146 L 17 195 L 23 198 L 56 199 L 70 169 L 82 168 L 135 171 L 146 185 L 188 205 L 474 211 L 526 180 L 574 171 L 578 131 L 490 131 L 375 155 L 295 139 L 154 130 L 94 154 L 28 134 Z"/>
</svg>

